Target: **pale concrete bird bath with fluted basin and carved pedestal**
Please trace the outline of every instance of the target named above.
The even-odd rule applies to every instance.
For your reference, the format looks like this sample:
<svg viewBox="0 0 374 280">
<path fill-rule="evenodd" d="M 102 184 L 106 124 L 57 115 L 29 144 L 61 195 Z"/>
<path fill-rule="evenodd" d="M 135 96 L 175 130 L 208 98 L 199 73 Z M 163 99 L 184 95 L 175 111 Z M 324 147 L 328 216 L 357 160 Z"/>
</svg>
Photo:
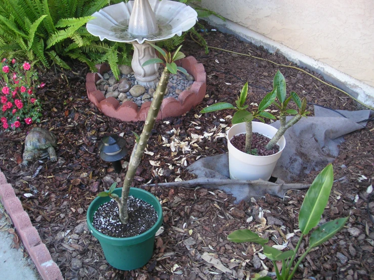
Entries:
<svg viewBox="0 0 374 280">
<path fill-rule="evenodd" d="M 159 64 L 142 67 L 149 59 L 157 58 L 147 42 L 157 42 L 182 35 L 195 25 L 197 13 L 183 3 L 169 0 L 135 0 L 101 9 L 93 14 L 87 30 L 100 38 L 134 45 L 131 66 L 138 83 L 155 87 Z"/>
</svg>

